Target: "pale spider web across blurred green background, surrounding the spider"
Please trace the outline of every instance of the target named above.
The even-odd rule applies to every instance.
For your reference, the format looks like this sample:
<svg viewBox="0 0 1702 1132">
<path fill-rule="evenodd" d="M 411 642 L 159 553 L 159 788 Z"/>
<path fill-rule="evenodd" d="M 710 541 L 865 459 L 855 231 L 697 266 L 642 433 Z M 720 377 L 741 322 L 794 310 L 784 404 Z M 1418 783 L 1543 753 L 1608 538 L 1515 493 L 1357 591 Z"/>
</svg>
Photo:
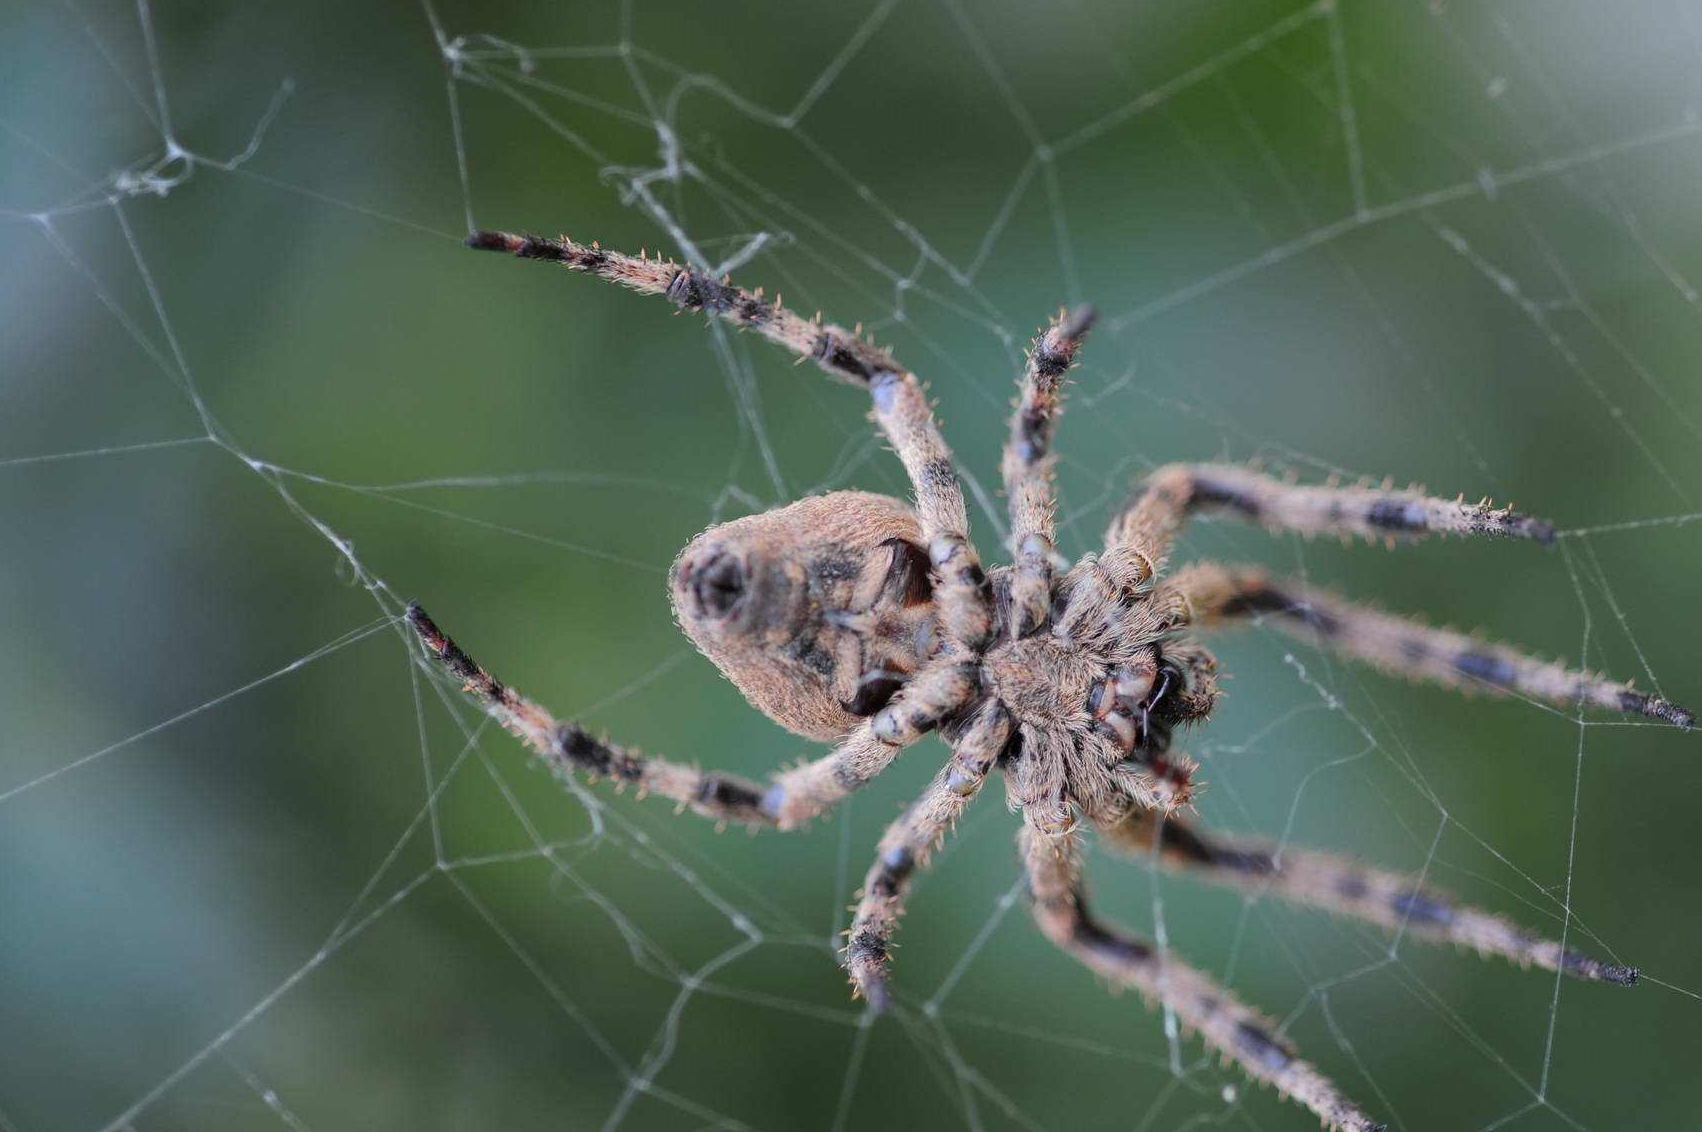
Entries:
<svg viewBox="0 0 1702 1132">
<path fill-rule="evenodd" d="M 0 100 L 0 1130 L 1302 1129 L 1021 909 L 984 798 L 875 1020 L 834 967 L 929 740 L 802 836 L 553 781 L 420 597 L 623 742 L 808 754 L 669 623 L 705 524 L 904 492 L 853 390 L 466 228 L 662 249 L 931 381 L 987 557 L 1021 351 L 1105 318 L 1062 550 L 1169 460 L 1513 497 L 1559 546 L 1195 524 L 1693 703 L 1702 14 L 1663 3 L 254 5 L 14 15 Z M 1397 1129 L 1683 1127 L 1695 740 L 1263 628 L 1200 819 L 1423 877 L 1636 991 L 1145 861 L 1096 900 Z M 1438 1086 L 1447 1088 L 1438 1088 Z"/>
</svg>

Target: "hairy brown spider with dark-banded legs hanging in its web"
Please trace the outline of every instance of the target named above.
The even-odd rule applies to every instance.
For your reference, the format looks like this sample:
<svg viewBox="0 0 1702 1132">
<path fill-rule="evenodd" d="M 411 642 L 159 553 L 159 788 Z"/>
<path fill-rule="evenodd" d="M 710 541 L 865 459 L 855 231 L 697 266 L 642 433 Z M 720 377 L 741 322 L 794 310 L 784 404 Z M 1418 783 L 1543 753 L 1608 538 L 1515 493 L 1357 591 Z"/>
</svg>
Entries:
<svg viewBox="0 0 1702 1132">
<path fill-rule="evenodd" d="M 1001 472 L 1013 565 L 984 570 L 963 492 L 922 385 L 858 334 L 803 318 L 672 260 L 597 243 L 477 232 L 473 249 L 563 264 L 681 310 L 754 330 L 831 376 L 861 386 L 909 473 L 914 507 L 832 492 L 698 535 L 669 570 L 669 597 L 693 643 L 776 723 L 831 754 L 757 785 L 638 754 L 557 720 L 473 662 L 419 604 L 408 621 L 468 693 L 558 771 L 635 783 L 715 822 L 797 829 L 940 730 L 951 758 L 880 839 L 842 952 L 854 994 L 890 1003 L 890 941 L 917 868 L 987 776 L 1004 776 L 1023 817 L 1018 846 L 1045 936 L 1117 986 L 1135 987 L 1254 1079 L 1345 1132 L 1375 1123 L 1276 1026 L 1154 943 L 1093 916 L 1082 890 L 1082 827 L 1151 853 L 1166 868 L 1270 892 L 1295 904 L 1471 945 L 1520 965 L 1631 986 L 1634 967 L 1540 938 L 1408 877 L 1328 853 L 1207 831 L 1178 809 L 1193 763 L 1171 751 L 1178 725 L 1203 722 L 1217 662 L 1197 632 L 1261 620 L 1418 679 L 1516 693 L 1561 706 L 1634 712 L 1690 729 L 1685 708 L 1503 645 L 1377 613 L 1253 567 L 1197 562 L 1166 570 L 1198 512 L 1271 531 L 1365 538 L 1499 535 L 1549 543 L 1554 528 L 1488 502 L 1418 490 L 1304 487 L 1231 465 L 1171 465 L 1137 487 L 1105 548 L 1076 563 L 1054 546 L 1052 436 L 1064 376 L 1093 312 L 1060 313 L 1019 378 Z"/>
</svg>

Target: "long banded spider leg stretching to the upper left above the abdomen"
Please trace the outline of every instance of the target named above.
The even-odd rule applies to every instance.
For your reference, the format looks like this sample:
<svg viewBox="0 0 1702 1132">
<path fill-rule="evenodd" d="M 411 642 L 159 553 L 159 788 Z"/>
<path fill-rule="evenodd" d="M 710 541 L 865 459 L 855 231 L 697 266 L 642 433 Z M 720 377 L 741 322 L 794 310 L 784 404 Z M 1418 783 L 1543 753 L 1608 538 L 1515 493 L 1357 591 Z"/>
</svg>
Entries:
<svg viewBox="0 0 1702 1132">
<path fill-rule="evenodd" d="M 568 238 L 540 240 L 505 232 L 475 232 L 468 247 L 541 259 L 574 271 L 601 276 L 642 294 L 665 294 L 681 310 L 701 310 L 747 330 L 756 330 L 808 359 L 829 374 L 868 390 L 875 420 L 892 441 L 916 490 L 916 509 L 928 540 L 928 557 L 940 582 L 934 601 L 946 635 L 968 649 L 987 640 L 992 625 L 987 579 L 968 541 L 968 512 L 951 453 L 928 407 L 916 374 L 904 371 L 885 349 L 861 340 L 851 330 L 803 318 L 780 301 L 715 281 L 710 276 L 662 259 L 606 252 Z"/>
</svg>

